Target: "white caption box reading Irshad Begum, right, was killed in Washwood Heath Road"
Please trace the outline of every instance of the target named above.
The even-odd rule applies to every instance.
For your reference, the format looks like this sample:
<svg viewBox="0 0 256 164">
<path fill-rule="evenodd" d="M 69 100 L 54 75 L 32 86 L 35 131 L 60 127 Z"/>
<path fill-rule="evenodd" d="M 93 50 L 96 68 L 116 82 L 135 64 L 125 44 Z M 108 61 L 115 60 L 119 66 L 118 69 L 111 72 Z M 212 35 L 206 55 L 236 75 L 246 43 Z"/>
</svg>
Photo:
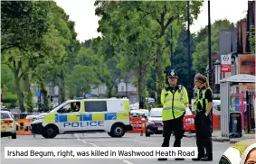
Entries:
<svg viewBox="0 0 256 164">
<path fill-rule="evenodd" d="M 196 147 L 5 147 L 5 159 L 157 159 L 197 157 Z"/>
</svg>

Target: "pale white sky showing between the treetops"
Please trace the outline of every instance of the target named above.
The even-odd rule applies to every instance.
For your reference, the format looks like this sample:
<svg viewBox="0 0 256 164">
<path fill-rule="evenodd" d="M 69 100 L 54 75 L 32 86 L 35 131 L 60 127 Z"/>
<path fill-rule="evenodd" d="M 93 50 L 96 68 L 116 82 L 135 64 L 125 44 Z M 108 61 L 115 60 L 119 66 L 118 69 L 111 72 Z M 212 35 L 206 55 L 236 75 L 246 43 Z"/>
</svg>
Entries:
<svg viewBox="0 0 256 164">
<path fill-rule="evenodd" d="M 97 32 L 100 18 L 95 15 L 95 0 L 54 0 L 57 5 L 62 7 L 66 14 L 70 15 L 71 21 L 75 22 L 75 31 L 78 33 L 79 41 L 90 40 L 100 36 Z M 241 20 L 247 11 L 247 0 L 211 0 L 211 22 L 216 20 L 228 19 L 232 23 Z M 191 32 L 198 32 L 208 24 L 207 1 L 201 7 Z"/>
</svg>

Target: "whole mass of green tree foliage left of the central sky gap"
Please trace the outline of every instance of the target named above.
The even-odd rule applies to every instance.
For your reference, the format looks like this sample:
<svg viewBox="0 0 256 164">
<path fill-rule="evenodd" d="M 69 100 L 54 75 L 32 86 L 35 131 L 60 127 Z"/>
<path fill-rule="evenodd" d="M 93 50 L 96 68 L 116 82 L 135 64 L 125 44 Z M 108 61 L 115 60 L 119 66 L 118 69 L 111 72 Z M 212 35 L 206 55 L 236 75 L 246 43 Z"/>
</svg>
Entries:
<svg viewBox="0 0 256 164">
<path fill-rule="evenodd" d="M 24 111 L 24 106 L 33 108 L 30 83 L 44 89 L 45 83 L 63 82 L 64 72 L 72 71 L 74 55 L 81 45 L 76 40 L 74 23 L 55 2 L 1 2 L 1 9 L 2 63 L 13 71 L 11 81 L 17 83 L 12 85 Z M 25 90 L 20 83 L 24 75 L 32 75 L 24 81 Z M 9 84 L 5 82 L 5 86 Z"/>
</svg>

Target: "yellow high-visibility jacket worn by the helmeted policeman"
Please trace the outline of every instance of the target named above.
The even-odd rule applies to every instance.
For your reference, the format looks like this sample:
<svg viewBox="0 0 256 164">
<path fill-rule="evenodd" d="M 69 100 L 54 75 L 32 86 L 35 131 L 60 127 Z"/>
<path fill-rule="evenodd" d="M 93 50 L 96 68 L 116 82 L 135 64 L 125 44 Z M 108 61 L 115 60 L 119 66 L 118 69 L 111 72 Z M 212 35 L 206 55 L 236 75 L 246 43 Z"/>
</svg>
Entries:
<svg viewBox="0 0 256 164">
<path fill-rule="evenodd" d="M 171 91 L 166 91 L 166 89 L 162 90 L 162 94 L 165 94 L 165 99 L 162 100 L 164 102 L 162 112 L 163 121 L 173 120 L 185 113 L 186 106 L 184 104 L 184 88 L 182 86 L 179 86 L 174 96 Z"/>
</svg>

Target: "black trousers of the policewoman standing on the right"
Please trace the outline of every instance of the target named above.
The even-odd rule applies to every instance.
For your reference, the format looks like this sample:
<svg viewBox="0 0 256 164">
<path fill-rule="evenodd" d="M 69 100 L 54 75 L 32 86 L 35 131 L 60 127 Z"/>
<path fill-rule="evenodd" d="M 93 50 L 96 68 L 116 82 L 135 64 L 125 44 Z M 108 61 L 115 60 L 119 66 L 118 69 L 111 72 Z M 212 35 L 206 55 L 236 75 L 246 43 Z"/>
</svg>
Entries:
<svg viewBox="0 0 256 164">
<path fill-rule="evenodd" d="M 205 115 L 205 112 L 197 112 L 194 118 L 194 128 L 196 134 L 196 145 L 198 150 L 198 157 L 206 156 L 213 158 L 213 141 L 212 141 L 212 116 Z"/>
</svg>

